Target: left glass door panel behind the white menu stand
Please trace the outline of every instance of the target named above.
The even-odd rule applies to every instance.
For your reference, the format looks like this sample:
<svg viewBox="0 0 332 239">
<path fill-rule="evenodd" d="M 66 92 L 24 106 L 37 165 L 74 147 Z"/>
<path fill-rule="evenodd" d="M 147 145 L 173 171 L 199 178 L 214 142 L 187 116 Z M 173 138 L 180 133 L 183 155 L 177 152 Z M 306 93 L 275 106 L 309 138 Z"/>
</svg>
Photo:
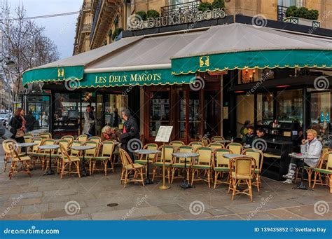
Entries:
<svg viewBox="0 0 332 239">
<path fill-rule="evenodd" d="M 157 135 L 160 125 L 170 125 L 170 96 L 166 91 L 151 92 L 150 137 Z"/>
</svg>

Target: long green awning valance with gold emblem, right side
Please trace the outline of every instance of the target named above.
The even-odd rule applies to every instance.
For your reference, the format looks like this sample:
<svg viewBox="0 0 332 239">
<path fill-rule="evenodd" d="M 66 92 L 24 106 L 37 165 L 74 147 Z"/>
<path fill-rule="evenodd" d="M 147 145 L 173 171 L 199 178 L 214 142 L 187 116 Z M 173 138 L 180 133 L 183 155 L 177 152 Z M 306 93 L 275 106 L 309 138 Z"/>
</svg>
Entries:
<svg viewBox="0 0 332 239">
<path fill-rule="evenodd" d="M 172 74 L 226 69 L 332 68 L 332 50 L 256 50 L 172 59 Z"/>
</svg>

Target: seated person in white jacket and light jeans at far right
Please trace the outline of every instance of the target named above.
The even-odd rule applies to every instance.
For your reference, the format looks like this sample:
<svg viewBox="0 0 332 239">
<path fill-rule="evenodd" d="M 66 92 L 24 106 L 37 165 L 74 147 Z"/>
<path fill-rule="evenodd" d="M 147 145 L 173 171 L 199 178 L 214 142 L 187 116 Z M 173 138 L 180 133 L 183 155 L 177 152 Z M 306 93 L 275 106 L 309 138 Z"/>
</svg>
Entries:
<svg viewBox="0 0 332 239">
<path fill-rule="evenodd" d="M 319 142 L 319 140 L 317 139 L 317 131 L 307 130 L 307 139 L 303 139 L 301 145 L 301 153 L 303 153 L 304 155 L 307 154 L 308 156 L 304 160 L 305 166 L 316 167 L 319 158 L 321 158 L 322 148 L 323 146 L 321 145 L 321 142 Z M 293 179 L 295 178 L 296 174 L 296 168 L 302 167 L 302 162 L 303 161 L 301 158 L 291 158 L 288 173 L 282 176 L 286 179 L 286 181 L 284 181 L 284 184 L 293 183 Z"/>
</svg>

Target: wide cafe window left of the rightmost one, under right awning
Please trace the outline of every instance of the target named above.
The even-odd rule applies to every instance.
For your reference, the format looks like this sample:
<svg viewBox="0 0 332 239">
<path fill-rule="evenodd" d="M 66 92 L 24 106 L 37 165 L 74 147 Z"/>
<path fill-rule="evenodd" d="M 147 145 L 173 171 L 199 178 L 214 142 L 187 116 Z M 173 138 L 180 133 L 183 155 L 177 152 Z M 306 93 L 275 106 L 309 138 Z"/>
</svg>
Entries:
<svg viewBox="0 0 332 239">
<path fill-rule="evenodd" d="M 280 123 L 300 122 L 303 120 L 303 92 L 282 90 L 277 92 L 277 118 Z"/>
</svg>

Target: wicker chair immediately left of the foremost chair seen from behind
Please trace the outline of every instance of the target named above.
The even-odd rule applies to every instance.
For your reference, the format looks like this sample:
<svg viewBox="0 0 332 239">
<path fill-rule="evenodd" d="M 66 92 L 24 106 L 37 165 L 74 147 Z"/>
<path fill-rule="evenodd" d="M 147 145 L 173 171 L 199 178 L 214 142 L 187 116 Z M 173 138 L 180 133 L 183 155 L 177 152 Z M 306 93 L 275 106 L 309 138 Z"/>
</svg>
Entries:
<svg viewBox="0 0 332 239">
<path fill-rule="evenodd" d="M 214 151 L 214 189 L 216 189 L 216 184 L 230 184 L 230 160 L 228 158 L 223 157 L 226 153 L 233 153 L 229 149 L 216 149 Z M 221 179 L 223 178 L 223 174 L 228 174 L 227 181 L 218 180 L 219 175 L 221 175 Z"/>
</svg>

